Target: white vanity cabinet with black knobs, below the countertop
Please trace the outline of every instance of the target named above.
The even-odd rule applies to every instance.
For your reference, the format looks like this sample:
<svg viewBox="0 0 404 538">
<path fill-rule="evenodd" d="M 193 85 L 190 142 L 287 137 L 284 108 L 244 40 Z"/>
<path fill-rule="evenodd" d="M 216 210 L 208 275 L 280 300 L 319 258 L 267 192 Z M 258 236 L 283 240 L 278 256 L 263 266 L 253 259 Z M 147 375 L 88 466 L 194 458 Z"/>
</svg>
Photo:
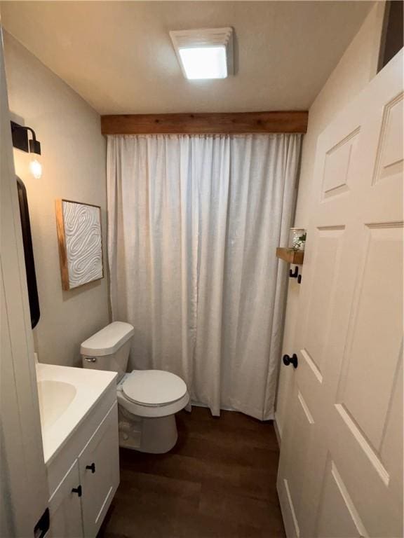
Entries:
<svg viewBox="0 0 404 538">
<path fill-rule="evenodd" d="M 116 384 L 47 464 L 53 538 L 95 538 L 119 485 Z"/>
</svg>

